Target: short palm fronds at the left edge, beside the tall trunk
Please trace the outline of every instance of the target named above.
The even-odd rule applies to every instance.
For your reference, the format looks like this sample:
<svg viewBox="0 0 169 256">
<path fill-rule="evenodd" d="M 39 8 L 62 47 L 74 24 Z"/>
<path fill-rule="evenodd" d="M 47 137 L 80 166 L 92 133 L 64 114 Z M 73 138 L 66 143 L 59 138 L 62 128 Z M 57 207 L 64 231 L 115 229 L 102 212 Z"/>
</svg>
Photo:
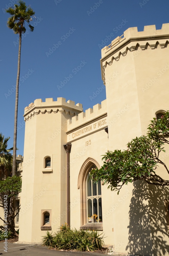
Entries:
<svg viewBox="0 0 169 256">
<path fill-rule="evenodd" d="M 0 133 L 0 180 L 7 177 L 12 170 L 12 156 L 9 154 L 12 148 L 7 149 L 9 138 L 4 138 L 4 135 Z"/>
</svg>

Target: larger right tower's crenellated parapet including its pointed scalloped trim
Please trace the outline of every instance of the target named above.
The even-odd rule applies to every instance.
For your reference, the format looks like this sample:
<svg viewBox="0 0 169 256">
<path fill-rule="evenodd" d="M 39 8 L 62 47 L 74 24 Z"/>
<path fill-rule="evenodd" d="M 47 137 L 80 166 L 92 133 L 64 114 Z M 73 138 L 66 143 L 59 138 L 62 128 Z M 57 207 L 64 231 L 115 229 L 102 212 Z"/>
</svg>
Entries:
<svg viewBox="0 0 169 256">
<path fill-rule="evenodd" d="M 113 61 L 118 61 L 132 51 L 144 51 L 147 49 L 157 49 L 169 47 L 169 23 L 163 24 L 161 29 L 155 25 L 144 26 L 143 31 L 138 31 L 137 27 L 128 28 L 122 36 L 115 38 L 110 45 L 102 49 L 101 72 L 102 80 L 105 84 L 105 68 L 112 65 Z"/>
</svg>

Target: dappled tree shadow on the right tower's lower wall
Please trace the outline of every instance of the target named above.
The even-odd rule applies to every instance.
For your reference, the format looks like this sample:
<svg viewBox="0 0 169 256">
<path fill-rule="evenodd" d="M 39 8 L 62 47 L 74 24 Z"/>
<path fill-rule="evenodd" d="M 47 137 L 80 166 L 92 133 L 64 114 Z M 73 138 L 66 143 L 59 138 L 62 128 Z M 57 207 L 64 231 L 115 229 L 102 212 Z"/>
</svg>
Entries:
<svg viewBox="0 0 169 256">
<path fill-rule="evenodd" d="M 128 253 L 169 255 L 169 187 L 134 182 L 129 210 Z M 168 203 L 168 204 L 167 204 Z"/>
</svg>

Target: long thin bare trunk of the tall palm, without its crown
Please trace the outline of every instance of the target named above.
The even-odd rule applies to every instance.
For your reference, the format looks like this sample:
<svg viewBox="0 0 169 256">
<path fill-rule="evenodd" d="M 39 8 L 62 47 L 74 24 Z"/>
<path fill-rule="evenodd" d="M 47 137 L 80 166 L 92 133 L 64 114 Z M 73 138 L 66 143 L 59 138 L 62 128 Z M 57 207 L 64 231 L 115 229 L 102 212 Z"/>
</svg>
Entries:
<svg viewBox="0 0 169 256">
<path fill-rule="evenodd" d="M 20 33 L 19 33 L 19 52 L 18 52 L 18 72 L 17 72 L 17 79 L 16 79 L 16 99 L 15 99 L 14 146 L 13 146 L 12 176 L 14 176 L 16 174 L 16 140 L 17 140 L 18 91 L 19 91 L 19 76 L 20 76 L 21 38 L 22 38 L 22 30 L 20 29 Z"/>
</svg>

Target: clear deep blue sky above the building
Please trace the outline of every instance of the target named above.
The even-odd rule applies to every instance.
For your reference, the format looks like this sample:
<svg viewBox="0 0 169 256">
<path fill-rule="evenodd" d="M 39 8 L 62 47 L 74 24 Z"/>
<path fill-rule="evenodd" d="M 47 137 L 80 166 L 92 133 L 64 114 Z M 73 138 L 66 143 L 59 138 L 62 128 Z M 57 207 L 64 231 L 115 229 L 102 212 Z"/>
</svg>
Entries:
<svg viewBox="0 0 169 256">
<path fill-rule="evenodd" d="M 4 9 L 15 3 L 15 0 L 0 2 L 0 132 L 10 136 L 8 148 L 13 146 L 18 35 L 7 28 L 9 15 Z M 129 27 L 142 31 L 145 25 L 155 24 L 156 29 L 161 29 L 163 23 L 169 22 L 168 0 L 100 0 L 100 3 L 98 0 L 26 0 L 26 4 L 35 11 L 37 22 L 33 33 L 25 34 L 21 47 L 17 134 L 17 154 L 21 155 L 26 106 L 35 99 L 57 100 L 57 97 L 82 103 L 84 111 L 101 103 L 106 98 L 105 89 L 92 98 L 93 92 L 103 85 L 100 58 L 104 45 L 101 44 L 108 40 L 106 45 L 109 45 Z M 114 36 L 110 38 L 111 33 Z M 85 65 L 76 72 L 75 68 L 82 62 Z M 60 87 L 69 75 L 70 80 Z"/>
</svg>

